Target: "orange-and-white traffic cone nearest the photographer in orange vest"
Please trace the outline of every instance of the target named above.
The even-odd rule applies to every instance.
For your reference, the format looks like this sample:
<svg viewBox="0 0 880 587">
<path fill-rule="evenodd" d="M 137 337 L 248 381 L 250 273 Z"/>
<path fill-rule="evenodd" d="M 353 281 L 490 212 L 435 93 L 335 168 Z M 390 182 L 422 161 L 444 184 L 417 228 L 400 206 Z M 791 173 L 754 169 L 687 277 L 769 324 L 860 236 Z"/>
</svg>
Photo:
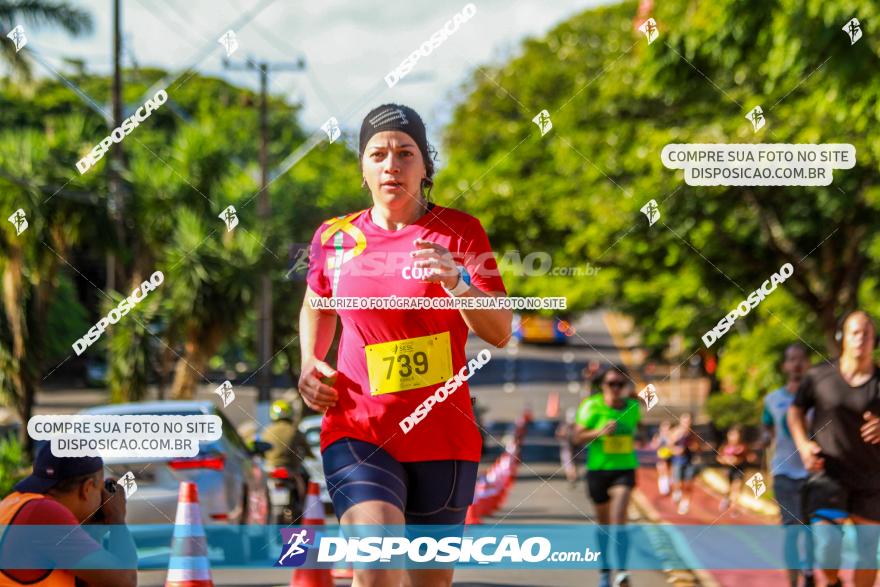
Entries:
<svg viewBox="0 0 880 587">
<path fill-rule="evenodd" d="M 177 494 L 177 515 L 165 587 L 214 587 L 199 508 L 199 491 L 195 483 L 187 481 L 181 482 Z"/>
</svg>

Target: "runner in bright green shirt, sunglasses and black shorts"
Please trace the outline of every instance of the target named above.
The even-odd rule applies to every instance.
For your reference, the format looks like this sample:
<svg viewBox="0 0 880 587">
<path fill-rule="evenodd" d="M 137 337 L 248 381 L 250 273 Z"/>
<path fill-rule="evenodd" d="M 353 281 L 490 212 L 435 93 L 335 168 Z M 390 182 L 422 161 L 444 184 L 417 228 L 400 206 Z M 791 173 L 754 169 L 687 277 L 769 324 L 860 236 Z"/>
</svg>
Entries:
<svg viewBox="0 0 880 587">
<path fill-rule="evenodd" d="M 629 379 L 620 369 L 609 367 L 598 379 L 602 392 L 588 397 L 580 405 L 572 440 L 576 444 L 587 444 L 587 494 L 596 506 L 599 524 L 616 527 L 614 542 L 618 573 L 614 585 L 628 587 L 629 536 L 623 526 L 627 520 L 630 494 L 636 485 L 639 461 L 635 433 L 641 415 L 639 402 L 627 391 Z M 600 531 L 598 538 L 600 551 L 608 553 L 608 531 Z M 609 560 L 607 554 L 603 560 Z M 611 585 L 611 569 L 607 562 L 600 572 L 599 585 Z"/>
</svg>

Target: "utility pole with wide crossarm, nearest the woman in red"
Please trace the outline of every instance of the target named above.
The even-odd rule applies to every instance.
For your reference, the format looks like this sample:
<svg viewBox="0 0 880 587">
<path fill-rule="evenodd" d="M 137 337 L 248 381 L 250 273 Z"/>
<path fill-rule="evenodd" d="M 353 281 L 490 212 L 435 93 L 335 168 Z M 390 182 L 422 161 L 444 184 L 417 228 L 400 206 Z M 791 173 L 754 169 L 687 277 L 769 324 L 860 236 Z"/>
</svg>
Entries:
<svg viewBox="0 0 880 587">
<path fill-rule="evenodd" d="M 248 58 L 245 65 L 235 65 L 223 60 L 223 68 L 232 71 L 256 70 L 260 75 L 260 191 L 257 197 L 257 216 L 269 234 L 269 217 L 272 205 L 269 201 L 269 72 L 302 71 L 305 60 L 292 63 L 257 63 Z M 257 420 L 269 421 L 269 402 L 272 401 L 272 278 L 268 273 L 260 276 L 260 295 L 257 298 Z"/>
</svg>

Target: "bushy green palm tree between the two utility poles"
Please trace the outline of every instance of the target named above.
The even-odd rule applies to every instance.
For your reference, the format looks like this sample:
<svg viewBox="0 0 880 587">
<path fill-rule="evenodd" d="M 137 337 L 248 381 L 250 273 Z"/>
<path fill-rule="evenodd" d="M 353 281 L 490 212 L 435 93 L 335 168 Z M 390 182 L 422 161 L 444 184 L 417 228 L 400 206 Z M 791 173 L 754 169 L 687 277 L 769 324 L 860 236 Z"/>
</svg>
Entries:
<svg viewBox="0 0 880 587">
<path fill-rule="evenodd" d="M 217 217 L 226 204 L 240 209 L 253 194 L 253 180 L 228 164 L 234 141 L 211 120 L 183 126 L 169 139 L 161 156 L 174 169 L 142 150 L 132 152 L 127 174 L 137 195 L 127 209 L 136 251 L 130 285 L 155 270 L 165 281 L 143 314 L 140 306 L 133 313 L 137 320 L 108 333 L 113 400 L 144 396 L 157 355 L 175 363 L 171 397 L 190 398 L 207 383 L 208 360 L 235 336 L 253 305 L 266 254 L 244 225 L 227 233 Z"/>
</svg>

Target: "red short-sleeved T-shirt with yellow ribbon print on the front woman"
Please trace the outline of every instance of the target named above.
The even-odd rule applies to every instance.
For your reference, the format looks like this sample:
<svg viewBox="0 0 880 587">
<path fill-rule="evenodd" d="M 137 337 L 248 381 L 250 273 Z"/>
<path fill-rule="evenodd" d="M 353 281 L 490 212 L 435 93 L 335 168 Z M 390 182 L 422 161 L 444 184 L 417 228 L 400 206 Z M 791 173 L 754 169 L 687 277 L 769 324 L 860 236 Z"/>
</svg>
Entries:
<svg viewBox="0 0 880 587">
<path fill-rule="evenodd" d="M 413 276 L 414 259 L 410 252 L 416 250 L 417 238 L 446 247 L 456 262 L 467 269 L 471 285 L 484 292 L 506 294 L 486 231 L 469 214 L 434 206 L 415 223 L 397 231 L 377 226 L 369 209 L 349 216 L 348 222 L 339 220 L 324 222 L 312 239 L 308 284 L 320 296 L 449 297 L 439 283 L 420 281 L 418 271 Z M 452 372 L 458 373 L 467 363 L 464 348 L 468 335 L 460 311 L 336 311 L 342 321 L 334 385 L 339 399 L 324 415 L 321 450 L 340 438 L 350 437 L 373 443 L 400 462 L 479 461 L 481 437 L 474 422 L 467 383 L 435 404 L 423 420 L 404 434 L 401 420 L 442 387 L 443 382 L 373 394 L 367 366 L 368 345 L 448 333 Z M 437 364 L 432 357 L 429 361 Z M 392 367 L 399 365 L 392 362 L 389 373 Z M 375 381 L 377 369 L 372 369 Z"/>
</svg>

